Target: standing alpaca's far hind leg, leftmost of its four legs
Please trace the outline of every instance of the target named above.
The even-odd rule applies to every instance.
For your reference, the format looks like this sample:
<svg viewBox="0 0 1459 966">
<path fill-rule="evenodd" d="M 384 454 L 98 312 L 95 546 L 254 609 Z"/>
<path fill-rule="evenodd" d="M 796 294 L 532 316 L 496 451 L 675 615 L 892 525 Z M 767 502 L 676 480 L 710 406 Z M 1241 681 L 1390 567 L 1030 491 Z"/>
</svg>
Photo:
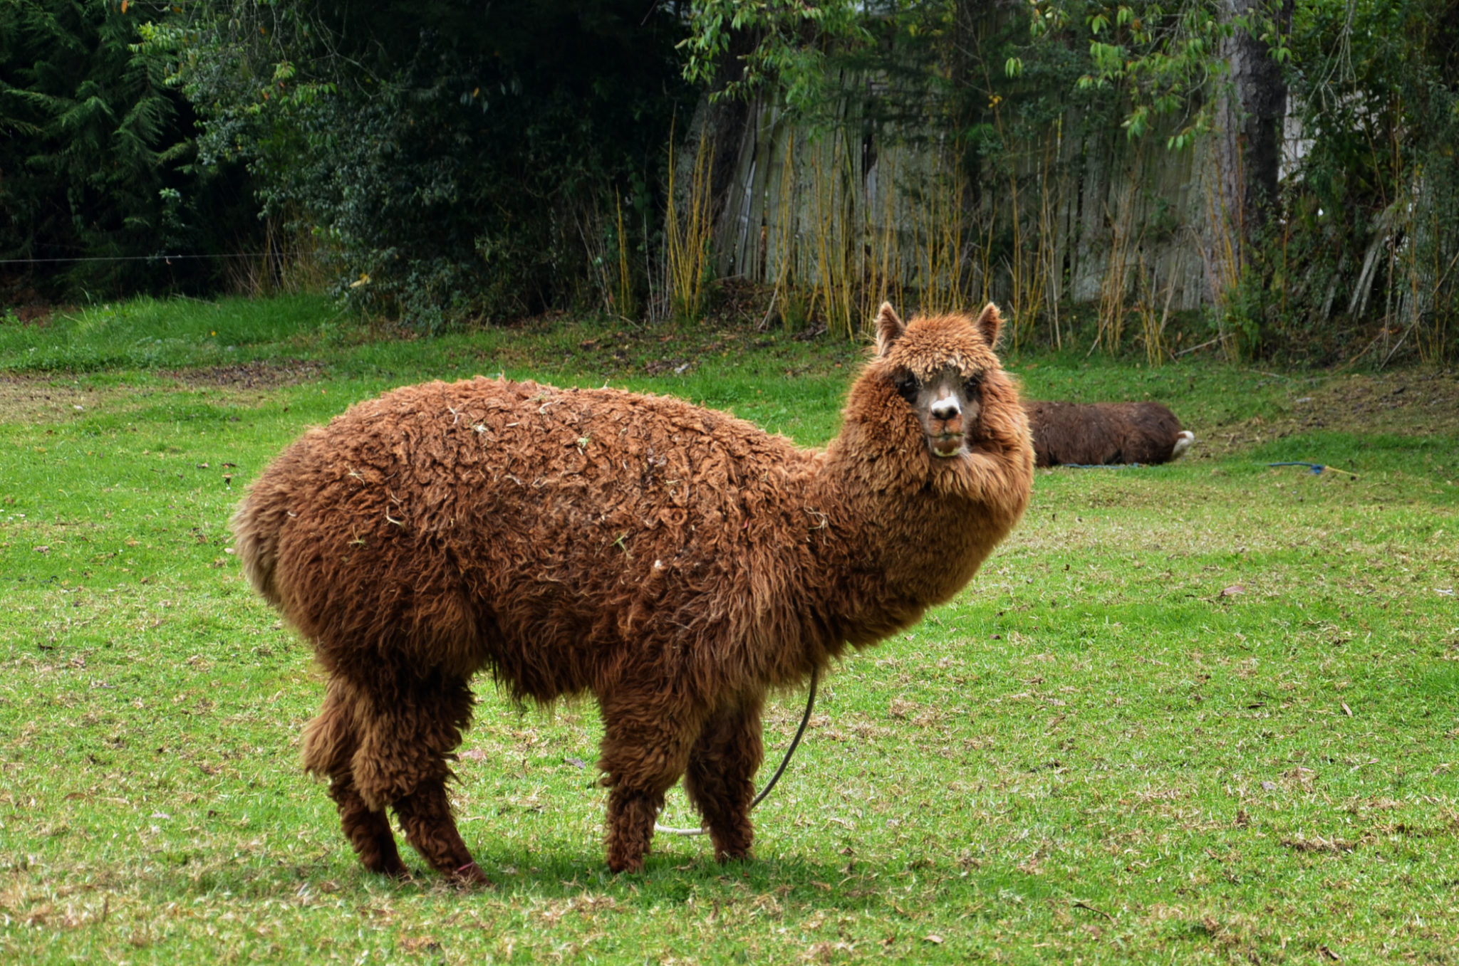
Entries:
<svg viewBox="0 0 1459 966">
<path fill-rule="evenodd" d="M 395 836 L 390 830 L 390 819 L 384 809 L 365 804 L 355 787 L 350 759 L 355 755 L 352 691 L 344 680 L 330 680 L 320 712 L 303 737 L 305 768 L 317 775 L 328 775 L 330 797 L 340 813 L 344 838 L 355 847 L 360 864 L 372 873 L 403 877 L 409 874 L 400 861 Z"/>
</svg>

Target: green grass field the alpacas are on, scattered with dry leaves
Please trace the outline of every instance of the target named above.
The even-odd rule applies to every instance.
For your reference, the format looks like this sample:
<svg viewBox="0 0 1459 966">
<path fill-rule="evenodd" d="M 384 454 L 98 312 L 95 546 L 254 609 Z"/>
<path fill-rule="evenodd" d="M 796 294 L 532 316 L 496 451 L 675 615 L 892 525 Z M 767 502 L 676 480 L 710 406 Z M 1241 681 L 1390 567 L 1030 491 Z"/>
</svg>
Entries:
<svg viewBox="0 0 1459 966">
<path fill-rule="evenodd" d="M 820 444 L 861 351 L 566 319 L 409 339 L 312 299 L 0 323 L 0 962 L 1459 962 L 1437 370 L 1011 358 L 1032 396 L 1157 398 L 1199 443 L 1040 471 L 954 603 L 829 678 L 756 861 L 661 838 L 610 876 L 594 707 L 481 682 L 457 804 L 495 886 L 355 863 L 298 762 L 320 673 L 229 554 L 267 460 L 382 389 L 498 372 Z M 677 791 L 665 820 L 693 823 Z"/>
</svg>

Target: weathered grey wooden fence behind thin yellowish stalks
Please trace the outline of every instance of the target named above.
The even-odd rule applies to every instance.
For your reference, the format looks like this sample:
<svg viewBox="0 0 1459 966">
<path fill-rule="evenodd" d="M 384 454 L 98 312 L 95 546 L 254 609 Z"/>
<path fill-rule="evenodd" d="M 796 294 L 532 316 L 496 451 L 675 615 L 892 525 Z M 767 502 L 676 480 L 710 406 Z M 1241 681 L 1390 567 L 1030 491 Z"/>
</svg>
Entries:
<svg viewBox="0 0 1459 966">
<path fill-rule="evenodd" d="M 1215 153 L 1201 144 L 1132 144 L 1069 112 L 1005 143 L 972 182 L 948 133 L 868 128 L 855 103 L 818 128 L 770 99 L 731 130 L 708 109 L 690 128 L 690 146 L 712 138 L 721 172 L 718 274 L 773 286 L 786 316 L 852 332 L 887 297 L 924 310 L 996 299 L 1015 338 L 1045 326 L 1059 342 L 1059 309 L 1078 302 L 1100 305 L 1102 339 L 1119 341 L 1129 309 L 1158 339 L 1169 312 L 1234 280 Z M 681 152 L 681 184 L 693 154 Z"/>
</svg>

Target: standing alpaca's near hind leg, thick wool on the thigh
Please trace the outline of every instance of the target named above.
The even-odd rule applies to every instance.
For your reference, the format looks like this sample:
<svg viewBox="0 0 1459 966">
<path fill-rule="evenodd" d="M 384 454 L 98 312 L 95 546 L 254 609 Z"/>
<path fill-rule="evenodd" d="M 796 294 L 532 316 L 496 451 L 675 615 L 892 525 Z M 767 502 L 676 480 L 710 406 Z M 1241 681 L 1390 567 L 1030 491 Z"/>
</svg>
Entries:
<svg viewBox="0 0 1459 966">
<path fill-rule="evenodd" d="M 432 868 L 467 881 L 484 881 L 457 830 L 446 780 L 446 756 L 471 720 L 464 680 L 432 675 L 372 701 L 369 729 L 355 752 L 355 781 L 365 801 L 391 806 L 406 841 Z"/>
</svg>

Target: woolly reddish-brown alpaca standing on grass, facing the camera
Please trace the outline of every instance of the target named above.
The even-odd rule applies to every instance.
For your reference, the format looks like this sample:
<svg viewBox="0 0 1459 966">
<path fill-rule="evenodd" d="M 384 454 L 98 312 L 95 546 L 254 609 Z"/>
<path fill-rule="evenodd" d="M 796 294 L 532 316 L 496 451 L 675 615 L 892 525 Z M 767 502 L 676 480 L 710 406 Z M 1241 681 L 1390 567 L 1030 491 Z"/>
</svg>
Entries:
<svg viewBox="0 0 1459 966">
<path fill-rule="evenodd" d="M 365 867 L 406 873 L 394 809 L 435 868 L 483 879 L 446 800 L 483 669 L 518 699 L 597 696 L 614 871 L 643 867 L 680 777 L 715 855 L 748 855 L 766 691 L 951 597 L 1027 506 L 1001 323 L 883 306 L 826 450 L 664 396 L 480 377 L 285 450 L 233 533 L 328 672 L 303 761 Z"/>
</svg>

